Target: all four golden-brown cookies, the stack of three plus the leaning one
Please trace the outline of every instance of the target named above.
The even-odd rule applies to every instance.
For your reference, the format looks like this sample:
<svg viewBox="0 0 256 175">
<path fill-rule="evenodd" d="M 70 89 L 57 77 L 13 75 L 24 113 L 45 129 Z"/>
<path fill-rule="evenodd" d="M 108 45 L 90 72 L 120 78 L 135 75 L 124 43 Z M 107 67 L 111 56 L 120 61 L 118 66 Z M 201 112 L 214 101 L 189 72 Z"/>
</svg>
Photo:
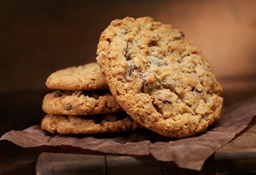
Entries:
<svg viewBox="0 0 256 175">
<path fill-rule="evenodd" d="M 64 134 L 94 133 L 96 126 L 97 132 L 142 126 L 184 138 L 218 120 L 222 87 L 181 30 L 151 17 L 113 20 L 100 35 L 96 54 L 98 65 L 57 71 L 47 79 L 47 87 L 58 91 L 44 98 L 49 115 L 42 129 Z M 121 119 L 114 116 L 121 110 L 126 112 Z"/>
</svg>

